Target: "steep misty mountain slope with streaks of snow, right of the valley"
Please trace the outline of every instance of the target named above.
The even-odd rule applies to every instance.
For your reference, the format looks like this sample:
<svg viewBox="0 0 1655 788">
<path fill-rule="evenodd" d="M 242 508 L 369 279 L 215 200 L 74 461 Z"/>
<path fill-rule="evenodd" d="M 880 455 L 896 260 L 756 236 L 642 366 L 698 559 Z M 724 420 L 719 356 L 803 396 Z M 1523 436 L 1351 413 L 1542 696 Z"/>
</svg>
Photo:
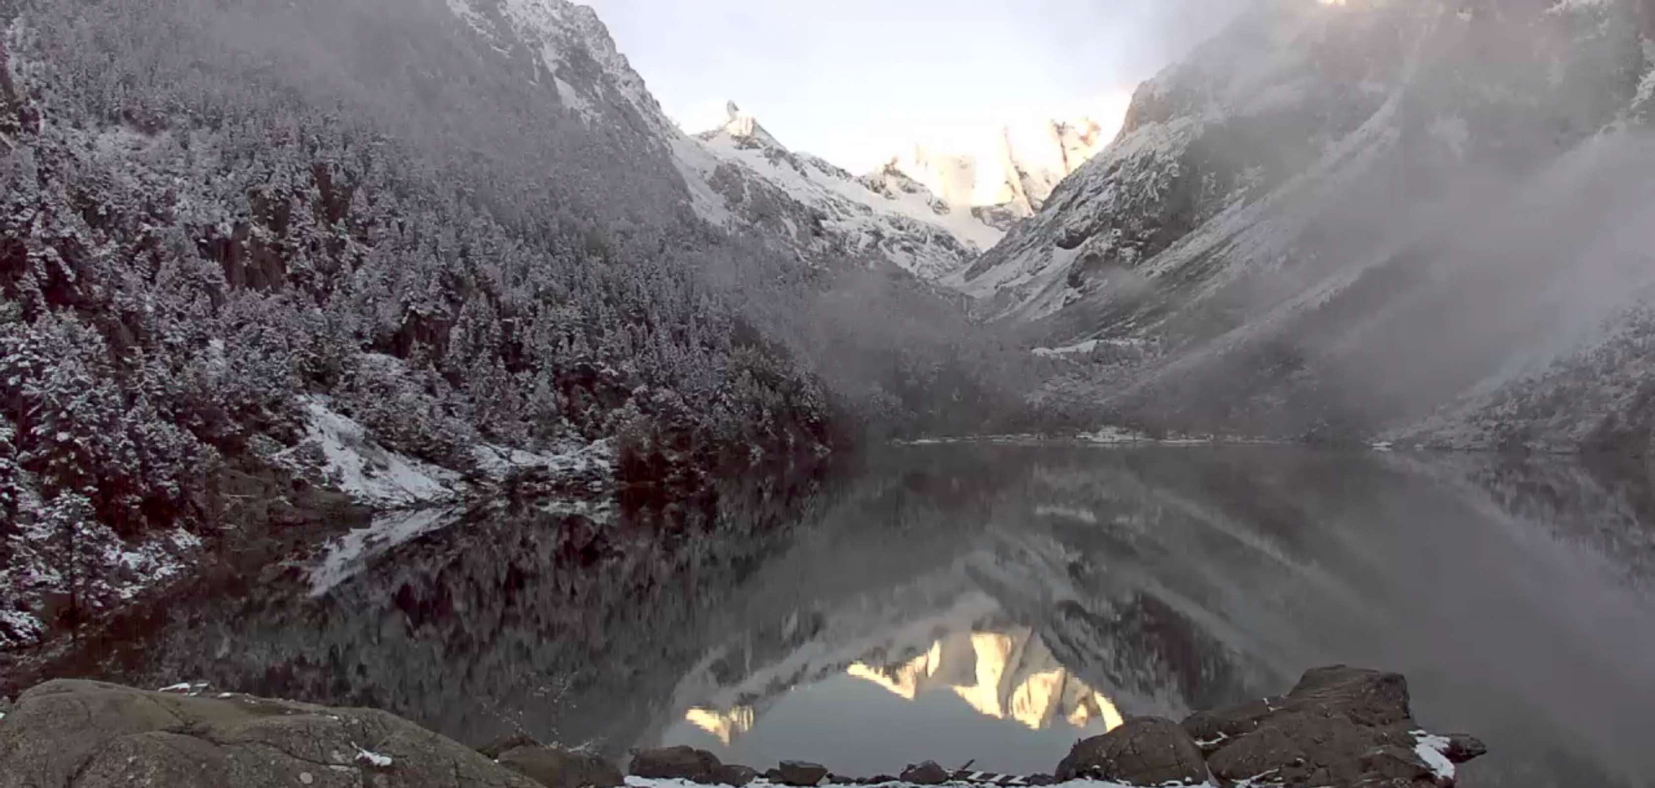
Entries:
<svg viewBox="0 0 1655 788">
<path fill-rule="evenodd" d="M 1261 3 L 958 285 L 1120 420 L 1647 444 L 1652 35 L 1643 0 Z"/>
</svg>

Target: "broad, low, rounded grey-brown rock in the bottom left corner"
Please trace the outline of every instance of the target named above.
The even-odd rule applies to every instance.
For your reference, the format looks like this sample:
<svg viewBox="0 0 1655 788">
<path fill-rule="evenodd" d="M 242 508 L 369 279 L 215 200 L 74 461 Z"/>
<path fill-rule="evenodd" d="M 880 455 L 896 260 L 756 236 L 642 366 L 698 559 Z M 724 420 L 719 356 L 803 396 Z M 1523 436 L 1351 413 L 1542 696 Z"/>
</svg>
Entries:
<svg viewBox="0 0 1655 788">
<path fill-rule="evenodd" d="M 538 788 L 401 717 L 86 680 L 25 692 L 0 720 L 0 788 Z"/>
</svg>

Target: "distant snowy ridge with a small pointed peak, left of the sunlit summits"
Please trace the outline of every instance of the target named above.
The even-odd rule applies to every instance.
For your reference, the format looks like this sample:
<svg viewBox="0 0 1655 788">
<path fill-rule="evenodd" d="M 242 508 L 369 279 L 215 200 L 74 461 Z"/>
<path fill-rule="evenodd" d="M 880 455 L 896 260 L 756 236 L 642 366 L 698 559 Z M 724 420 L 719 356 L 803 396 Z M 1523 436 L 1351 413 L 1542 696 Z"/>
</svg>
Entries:
<svg viewBox="0 0 1655 788">
<path fill-rule="evenodd" d="M 728 111 L 723 127 L 695 137 L 712 161 L 692 164 L 692 177 L 723 200 L 735 225 L 784 242 L 806 262 L 880 260 L 935 280 L 975 260 L 1003 235 L 900 171 L 851 175 L 788 151 L 735 103 Z"/>
</svg>

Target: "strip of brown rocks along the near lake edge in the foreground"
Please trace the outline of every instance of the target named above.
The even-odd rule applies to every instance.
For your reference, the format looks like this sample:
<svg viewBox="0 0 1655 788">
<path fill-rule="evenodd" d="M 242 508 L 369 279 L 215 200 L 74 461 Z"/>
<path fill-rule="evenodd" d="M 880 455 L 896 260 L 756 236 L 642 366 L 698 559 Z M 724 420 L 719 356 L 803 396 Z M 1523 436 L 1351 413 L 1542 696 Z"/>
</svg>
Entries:
<svg viewBox="0 0 1655 788">
<path fill-rule="evenodd" d="M 1281 697 L 1197 712 L 1183 722 L 1134 717 L 1077 742 L 1049 775 L 995 775 L 910 765 L 852 778 L 818 763 L 768 771 L 667 747 L 632 753 L 629 775 L 589 753 L 513 737 L 478 750 L 372 709 L 209 692 L 149 692 L 53 680 L 17 704 L 0 699 L 0 788 L 490 786 L 662 788 L 667 785 L 1059 785 L 1446 788 L 1486 748 L 1470 735 L 1422 730 L 1400 674 L 1344 665 L 1307 670 Z"/>
</svg>

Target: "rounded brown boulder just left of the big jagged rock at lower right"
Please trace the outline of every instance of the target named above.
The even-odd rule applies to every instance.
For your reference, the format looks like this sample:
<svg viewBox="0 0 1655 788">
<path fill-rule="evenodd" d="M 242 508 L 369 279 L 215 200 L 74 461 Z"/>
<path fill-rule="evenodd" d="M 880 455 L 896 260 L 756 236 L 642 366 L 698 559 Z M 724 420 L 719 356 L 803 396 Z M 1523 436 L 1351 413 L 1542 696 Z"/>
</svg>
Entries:
<svg viewBox="0 0 1655 788">
<path fill-rule="evenodd" d="M 1160 717 L 1134 717 L 1074 745 L 1058 763 L 1058 780 L 1112 780 L 1125 785 L 1205 783 L 1206 763 L 1190 733 Z"/>
</svg>

